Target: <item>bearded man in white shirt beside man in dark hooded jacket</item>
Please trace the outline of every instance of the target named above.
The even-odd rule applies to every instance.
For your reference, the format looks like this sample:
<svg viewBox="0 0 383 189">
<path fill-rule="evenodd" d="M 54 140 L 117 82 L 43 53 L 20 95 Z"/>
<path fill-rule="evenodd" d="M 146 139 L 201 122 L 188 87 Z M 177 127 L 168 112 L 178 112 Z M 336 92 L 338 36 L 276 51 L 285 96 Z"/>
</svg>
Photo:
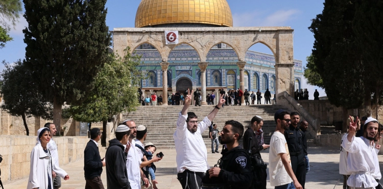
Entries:
<svg viewBox="0 0 383 189">
<path fill-rule="evenodd" d="M 133 120 L 125 120 L 122 125 L 126 125 L 130 129 L 129 142 L 126 146 L 129 145 L 130 149 L 126 156 L 126 169 L 128 171 L 128 179 L 130 182 L 130 187 L 132 189 L 141 188 L 141 178 L 145 182 L 145 187 L 149 187 L 149 180 L 146 178 L 140 169 L 140 164 L 142 163 L 142 155 L 139 154 L 135 148 L 136 141 L 133 140 L 137 136 L 137 127 Z"/>
</svg>

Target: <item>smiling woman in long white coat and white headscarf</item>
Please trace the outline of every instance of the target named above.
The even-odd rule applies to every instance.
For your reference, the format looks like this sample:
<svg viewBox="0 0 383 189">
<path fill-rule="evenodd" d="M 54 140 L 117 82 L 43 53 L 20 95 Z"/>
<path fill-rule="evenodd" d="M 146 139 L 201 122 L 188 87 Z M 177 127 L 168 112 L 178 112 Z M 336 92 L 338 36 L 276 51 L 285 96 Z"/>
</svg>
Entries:
<svg viewBox="0 0 383 189">
<path fill-rule="evenodd" d="M 31 169 L 27 189 L 52 189 L 52 156 L 46 145 L 51 140 L 51 131 L 40 128 L 37 143 L 31 152 Z"/>
</svg>

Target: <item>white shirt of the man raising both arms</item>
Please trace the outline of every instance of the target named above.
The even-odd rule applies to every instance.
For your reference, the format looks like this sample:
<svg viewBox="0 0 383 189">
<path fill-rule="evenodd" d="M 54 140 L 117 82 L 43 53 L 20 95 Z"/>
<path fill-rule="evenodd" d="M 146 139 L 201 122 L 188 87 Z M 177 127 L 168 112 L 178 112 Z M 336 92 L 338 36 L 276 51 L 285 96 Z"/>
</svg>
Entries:
<svg viewBox="0 0 383 189">
<path fill-rule="evenodd" d="M 182 173 L 185 169 L 193 172 L 206 172 L 210 169 L 207 163 L 207 150 L 201 133 L 210 126 L 210 120 L 205 117 L 198 124 L 197 131 L 192 133 L 187 130 L 187 115 L 178 115 L 177 129 L 173 134 L 176 145 L 177 172 Z"/>
</svg>

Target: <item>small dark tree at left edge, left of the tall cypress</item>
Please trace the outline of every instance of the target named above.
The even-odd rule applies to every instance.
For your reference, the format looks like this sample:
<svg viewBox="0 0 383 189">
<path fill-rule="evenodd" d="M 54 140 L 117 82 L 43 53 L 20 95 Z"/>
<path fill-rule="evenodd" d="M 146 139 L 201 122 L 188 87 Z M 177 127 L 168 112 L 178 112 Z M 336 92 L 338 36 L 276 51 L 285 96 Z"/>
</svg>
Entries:
<svg viewBox="0 0 383 189">
<path fill-rule="evenodd" d="M 18 60 L 11 65 L 3 61 L 1 91 L 3 94 L 3 109 L 13 116 L 21 116 L 27 135 L 29 129 L 26 117 L 41 116 L 43 119 L 52 119 L 52 108 L 45 101 L 42 94 L 36 90 L 37 83 L 31 80 L 32 73 Z"/>
</svg>

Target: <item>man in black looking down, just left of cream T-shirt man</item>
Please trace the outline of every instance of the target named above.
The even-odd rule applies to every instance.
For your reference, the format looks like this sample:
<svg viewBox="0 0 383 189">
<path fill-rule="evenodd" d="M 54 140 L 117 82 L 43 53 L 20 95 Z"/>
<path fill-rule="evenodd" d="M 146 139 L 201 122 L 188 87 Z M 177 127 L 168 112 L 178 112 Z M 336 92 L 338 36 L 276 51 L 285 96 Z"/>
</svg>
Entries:
<svg viewBox="0 0 383 189">
<path fill-rule="evenodd" d="M 259 164 L 256 163 L 257 160 L 262 160 L 260 151 L 270 147 L 269 145 L 266 145 L 263 143 L 261 135 L 257 136 L 255 134 L 255 132 L 257 132 L 258 130 L 262 128 L 262 125 L 264 125 L 264 120 L 262 119 L 262 117 L 256 115 L 251 119 L 251 125 L 247 128 L 244 134 L 244 149 L 247 152 L 251 150 L 251 160 L 252 160 L 251 163 L 254 167 L 254 172 L 256 175 L 253 181 L 253 185 L 259 189 L 266 189 L 267 165 L 265 163 L 259 163 Z M 250 137 L 251 137 L 251 146 L 249 149 Z M 253 159 L 255 160 L 255 162 Z"/>
</svg>

